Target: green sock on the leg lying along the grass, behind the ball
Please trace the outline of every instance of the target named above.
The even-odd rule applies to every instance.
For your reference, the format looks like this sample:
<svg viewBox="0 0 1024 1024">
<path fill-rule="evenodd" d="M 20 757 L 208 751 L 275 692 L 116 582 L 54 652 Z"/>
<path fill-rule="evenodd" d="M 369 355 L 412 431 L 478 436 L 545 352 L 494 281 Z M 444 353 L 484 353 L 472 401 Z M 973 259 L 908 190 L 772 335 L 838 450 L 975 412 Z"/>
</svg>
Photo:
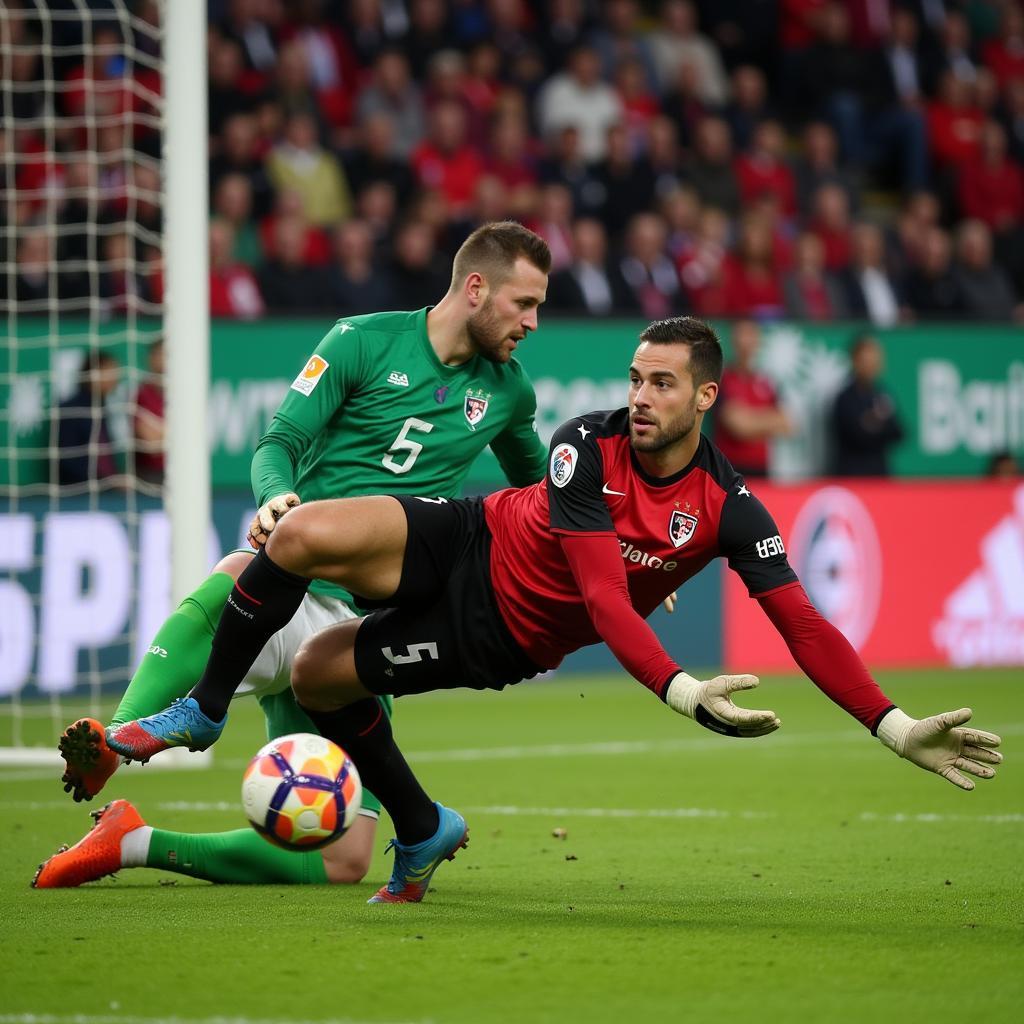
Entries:
<svg viewBox="0 0 1024 1024">
<path fill-rule="evenodd" d="M 145 864 L 227 885 L 327 882 L 327 868 L 318 850 L 279 850 L 251 828 L 199 836 L 154 828 Z"/>
</svg>

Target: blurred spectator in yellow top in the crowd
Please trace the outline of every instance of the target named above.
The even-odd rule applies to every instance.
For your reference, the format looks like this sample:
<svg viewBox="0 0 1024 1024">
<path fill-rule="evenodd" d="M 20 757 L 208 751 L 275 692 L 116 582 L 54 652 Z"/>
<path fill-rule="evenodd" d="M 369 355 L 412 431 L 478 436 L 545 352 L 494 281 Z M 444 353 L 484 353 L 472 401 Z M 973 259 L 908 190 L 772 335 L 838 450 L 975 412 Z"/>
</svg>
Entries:
<svg viewBox="0 0 1024 1024">
<path fill-rule="evenodd" d="M 316 122 L 310 114 L 293 114 L 285 123 L 285 138 L 266 161 L 278 189 L 292 189 L 302 197 L 306 219 L 333 224 L 351 216 L 348 182 L 338 160 L 316 140 Z"/>
</svg>

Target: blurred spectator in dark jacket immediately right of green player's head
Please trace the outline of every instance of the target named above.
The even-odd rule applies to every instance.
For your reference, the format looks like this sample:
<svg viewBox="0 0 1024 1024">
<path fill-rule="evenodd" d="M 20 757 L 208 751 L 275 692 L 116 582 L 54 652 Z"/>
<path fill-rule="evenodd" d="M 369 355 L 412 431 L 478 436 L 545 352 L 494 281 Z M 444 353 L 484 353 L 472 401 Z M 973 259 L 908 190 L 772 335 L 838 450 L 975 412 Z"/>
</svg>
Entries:
<svg viewBox="0 0 1024 1024">
<path fill-rule="evenodd" d="M 636 309 L 634 294 L 608 262 L 608 239 L 599 220 L 581 217 L 572 225 L 572 262 L 551 275 L 547 305 L 588 316 Z"/>
</svg>

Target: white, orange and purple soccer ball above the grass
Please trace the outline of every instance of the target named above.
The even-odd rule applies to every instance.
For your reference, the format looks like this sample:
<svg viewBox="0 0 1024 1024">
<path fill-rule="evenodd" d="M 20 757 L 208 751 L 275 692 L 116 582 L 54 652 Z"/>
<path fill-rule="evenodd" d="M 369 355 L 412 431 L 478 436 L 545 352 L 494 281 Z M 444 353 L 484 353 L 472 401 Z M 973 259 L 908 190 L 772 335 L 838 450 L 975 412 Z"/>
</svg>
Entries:
<svg viewBox="0 0 1024 1024">
<path fill-rule="evenodd" d="M 242 806 L 253 828 L 286 850 L 318 850 L 340 839 L 361 800 L 348 755 L 309 732 L 271 740 L 242 778 Z"/>
</svg>

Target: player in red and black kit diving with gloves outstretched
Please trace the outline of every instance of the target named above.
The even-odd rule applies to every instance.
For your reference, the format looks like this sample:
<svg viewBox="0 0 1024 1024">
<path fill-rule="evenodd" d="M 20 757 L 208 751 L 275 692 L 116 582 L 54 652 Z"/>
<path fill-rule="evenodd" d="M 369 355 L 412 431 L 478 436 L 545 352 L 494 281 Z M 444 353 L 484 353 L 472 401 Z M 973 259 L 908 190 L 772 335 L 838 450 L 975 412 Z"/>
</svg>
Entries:
<svg viewBox="0 0 1024 1024">
<path fill-rule="evenodd" d="M 394 822 L 394 872 L 374 901 L 422 899 L 466 840 L 462 817 L 420 786 L 376 694 L 501 688 L 604 640 L 632 676 L 707 728 L 777 729 L 774 712 L 732 702 L 756 677 L 694 679 L 644 621 L 720 556 L 804 672 L 887 746 L 964 790 L 974 787 L 968 775 L 994 774 L 998 736 L 965 728 L 968 709 L 920 721 L 904 714 L 808 600 L 771 515 L 700 433 L 721 371 L 707 324 L 652 324 L 630 367 L 629 408 L 563 424 L 544 481 L 482 500 L 309 503 L 279 523 L 239 579 L 237 611 L 221 620 L 205 677 L 225 688 L 264 634 L 288 621 L 310 578 L 380 609 L 307 640 L 292 672 L 301 706 L 349 753 Z"/>
</svg>

